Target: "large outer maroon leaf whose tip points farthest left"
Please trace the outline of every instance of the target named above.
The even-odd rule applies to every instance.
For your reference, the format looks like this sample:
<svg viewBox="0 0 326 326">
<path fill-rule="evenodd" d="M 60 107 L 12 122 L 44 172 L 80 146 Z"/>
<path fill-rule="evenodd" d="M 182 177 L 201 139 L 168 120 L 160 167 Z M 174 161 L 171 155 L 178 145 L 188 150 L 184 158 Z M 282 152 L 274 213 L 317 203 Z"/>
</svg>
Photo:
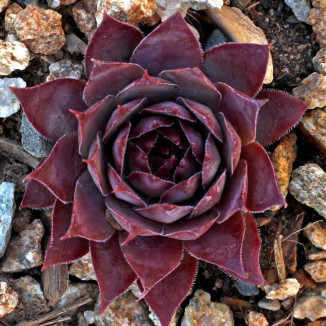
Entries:
<svg viewBox="0 0 326 326">
<path fill-rule="evenodd" d="M 10 89 L 33 127 L 43 137 L 56 142 L 64 134 L 77 131 L 77 120 L 69 109 L 87 108 L 84 87 L 85 82 L 81 80 L 59 78 L 33 87 Z"/>
</svg>

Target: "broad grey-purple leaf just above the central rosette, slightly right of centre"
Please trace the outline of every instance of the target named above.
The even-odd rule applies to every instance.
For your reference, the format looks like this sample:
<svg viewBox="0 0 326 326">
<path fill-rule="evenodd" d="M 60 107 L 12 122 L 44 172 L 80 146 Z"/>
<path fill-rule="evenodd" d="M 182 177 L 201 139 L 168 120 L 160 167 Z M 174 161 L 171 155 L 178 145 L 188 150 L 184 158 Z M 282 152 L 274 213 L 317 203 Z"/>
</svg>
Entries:
<svg viewBox="0 0 326 326">
<path fill-rule="evenodd" d="M 180 96 L 217 109 L 221 94 L 214 84 L 198 68 L 165 70 L 159 77 L 176 84 L 181 89 Z"/>
</svg>

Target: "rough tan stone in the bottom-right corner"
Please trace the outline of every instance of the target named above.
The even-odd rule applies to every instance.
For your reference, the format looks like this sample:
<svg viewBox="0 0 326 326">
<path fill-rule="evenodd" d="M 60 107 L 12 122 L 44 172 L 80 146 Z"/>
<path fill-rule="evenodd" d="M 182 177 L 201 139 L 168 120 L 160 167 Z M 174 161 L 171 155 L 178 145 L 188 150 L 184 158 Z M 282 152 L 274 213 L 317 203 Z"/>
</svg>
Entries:
<svg viewBox="0 0 326 326">
<path fill-rule="evenodd" d="M 326 317 L 326 285 L 321 285 L 311 292 L 302 294 L 293 311 L 294 318 L 311 321 Z"/>
</svg>

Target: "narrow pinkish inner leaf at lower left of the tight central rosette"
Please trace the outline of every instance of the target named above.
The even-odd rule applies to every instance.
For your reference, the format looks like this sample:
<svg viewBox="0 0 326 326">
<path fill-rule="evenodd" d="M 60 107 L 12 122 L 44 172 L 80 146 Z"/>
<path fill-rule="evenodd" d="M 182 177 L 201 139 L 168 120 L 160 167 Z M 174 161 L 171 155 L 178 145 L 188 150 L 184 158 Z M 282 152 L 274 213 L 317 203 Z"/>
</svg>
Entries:
<svg viewBox="0 0 326 326">
<path fill-rule="evenodd" d="M 108 165 L 108 176 L 112 193 L 119 199 L 124 200 L 130 204 L 136 206 L 145 206 L 146 203 L 140 198 L 134 190 L 132 190 L 119 176 L 119 174 L 113 169 L 111 165 Z"/>
</svg>

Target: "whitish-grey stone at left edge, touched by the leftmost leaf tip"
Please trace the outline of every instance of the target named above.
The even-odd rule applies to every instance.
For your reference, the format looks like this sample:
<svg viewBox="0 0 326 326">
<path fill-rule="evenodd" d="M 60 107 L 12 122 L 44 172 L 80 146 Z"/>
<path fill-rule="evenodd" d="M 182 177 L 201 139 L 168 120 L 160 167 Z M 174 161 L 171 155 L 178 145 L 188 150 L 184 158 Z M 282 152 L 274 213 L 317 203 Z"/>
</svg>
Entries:
<svg viewBox="0 0 326 326">
<path fill-rule="evenodd" d="M 8 86 L 24 88 L 26 83 L 21 78 L 0 79 L 0 117 L 7 118 L 20 109 L 20 104 L 16 96 Z"/>
</svg>

